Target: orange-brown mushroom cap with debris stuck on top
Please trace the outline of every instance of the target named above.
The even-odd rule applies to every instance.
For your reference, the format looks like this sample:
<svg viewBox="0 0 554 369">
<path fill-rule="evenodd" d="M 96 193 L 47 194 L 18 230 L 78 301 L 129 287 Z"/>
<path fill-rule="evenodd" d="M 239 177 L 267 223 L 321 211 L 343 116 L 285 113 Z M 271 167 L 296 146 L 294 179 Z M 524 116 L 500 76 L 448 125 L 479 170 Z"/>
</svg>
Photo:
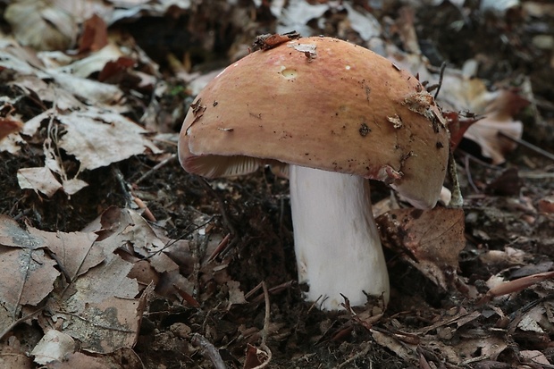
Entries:
<svg viewBox="0 0 554 369">
<path fill-rule="evenodd" d="M 232 63 L 198 94 L 179 140 L 183 168 L 206 178 L 296 164 L 384 180 L 418 207 L 435 205 L 448 150 L 441 110 L 416 77 L 323 37 Z"/>
</svg>

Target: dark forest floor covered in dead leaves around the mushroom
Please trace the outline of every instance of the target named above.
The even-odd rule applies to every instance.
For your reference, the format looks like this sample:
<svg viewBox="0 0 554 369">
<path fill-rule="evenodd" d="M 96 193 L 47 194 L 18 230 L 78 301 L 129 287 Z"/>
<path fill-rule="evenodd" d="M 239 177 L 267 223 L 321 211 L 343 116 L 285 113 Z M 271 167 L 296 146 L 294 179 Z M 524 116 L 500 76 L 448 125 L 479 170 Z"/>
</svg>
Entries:
<svg viewBox="0 0 554 369">
<path fill-rule="evenodd" d="M 554 4 L 117 3 L 3 5 L 0 367 L 554 367 Z M 417 222 L 371 181 L 384 311 L 303 301 L 288 180 L 206 181 L 176 157 L 213 72 L 292 29 L 429 86 L 446 63 L 439 104 L 483 118 L 454 152 L 461 210 Z"/>
</svg>

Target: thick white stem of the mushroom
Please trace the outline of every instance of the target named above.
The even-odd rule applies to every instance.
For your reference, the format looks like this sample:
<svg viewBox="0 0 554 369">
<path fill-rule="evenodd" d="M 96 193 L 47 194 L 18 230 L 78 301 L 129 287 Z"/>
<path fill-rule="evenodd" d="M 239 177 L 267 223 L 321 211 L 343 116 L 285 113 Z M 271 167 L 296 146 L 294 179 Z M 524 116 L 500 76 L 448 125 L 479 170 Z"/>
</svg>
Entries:
<svg viewBox="0 0 554 369">
<path fill-rule="evenodd" d="M 290 206 L 298 281 L 308 301 L 340 309 L 344 295 L 363 306 L 367 295 L 389 300 L 389 274 L 362 177 L 290 165 Z M 321 303 L 321 305 L 319 305 Z"/>
</svg>

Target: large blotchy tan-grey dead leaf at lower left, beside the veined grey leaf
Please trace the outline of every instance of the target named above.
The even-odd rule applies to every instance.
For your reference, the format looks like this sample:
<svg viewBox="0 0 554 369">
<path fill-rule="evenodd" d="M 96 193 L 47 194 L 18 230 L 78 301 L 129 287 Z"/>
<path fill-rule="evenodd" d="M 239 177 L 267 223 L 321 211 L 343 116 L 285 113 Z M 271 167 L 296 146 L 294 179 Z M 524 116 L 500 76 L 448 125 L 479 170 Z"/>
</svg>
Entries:
<svg viewBox="0 0 554 369">
<path fill-rule="evenodd" d="M 139 334 L 144 306 L 135 298 L 138 283 L 127 277 L 132 264 L 113 254 L 121 246 L 114 243 L 110 238 L 97 242 L 95 247 L 103 248 L 105 261 L 80 275 L 69 293 L 55 291 L 48 301 L 53 319 L 64 322 L 62 331 L 80 340 L 81 347 L 90 352 L 130 348 Z"/>
</svg>

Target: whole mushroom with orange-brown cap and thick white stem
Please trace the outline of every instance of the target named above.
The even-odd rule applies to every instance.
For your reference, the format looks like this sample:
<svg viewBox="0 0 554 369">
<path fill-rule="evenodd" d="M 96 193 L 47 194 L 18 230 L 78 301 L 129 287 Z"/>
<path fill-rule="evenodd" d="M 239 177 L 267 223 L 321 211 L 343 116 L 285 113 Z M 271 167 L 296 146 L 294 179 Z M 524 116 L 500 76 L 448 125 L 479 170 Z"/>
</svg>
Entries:
<svg viewBox="0 0 554 369">
<path fill-rule="evenodd" d="M 232 63 L 197 96 L 179 140 L 180 164 L 206 178 L 289 164 L 298 280 L 325 310 L 342 296 L 351 306 L 389 299 L 367 179 L 432 207 L 448 150 L 441 111 L 416 77 L 323 37 Z"/>
</svg>

